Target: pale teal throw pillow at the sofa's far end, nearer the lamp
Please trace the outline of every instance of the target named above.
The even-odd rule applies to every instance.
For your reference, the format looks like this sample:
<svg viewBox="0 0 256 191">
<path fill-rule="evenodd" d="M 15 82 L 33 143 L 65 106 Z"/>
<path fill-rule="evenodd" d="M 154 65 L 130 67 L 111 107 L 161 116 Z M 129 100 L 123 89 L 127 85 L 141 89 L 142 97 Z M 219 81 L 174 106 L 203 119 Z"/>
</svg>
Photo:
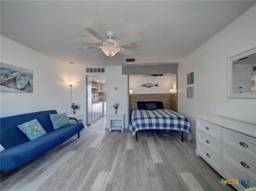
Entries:
<svg viewBox="0 0 256 191">
<path fill-rule="evenodd" d="M 49 114 L 54 129 L 72 124 L 66 113 Z"/>
</svg>

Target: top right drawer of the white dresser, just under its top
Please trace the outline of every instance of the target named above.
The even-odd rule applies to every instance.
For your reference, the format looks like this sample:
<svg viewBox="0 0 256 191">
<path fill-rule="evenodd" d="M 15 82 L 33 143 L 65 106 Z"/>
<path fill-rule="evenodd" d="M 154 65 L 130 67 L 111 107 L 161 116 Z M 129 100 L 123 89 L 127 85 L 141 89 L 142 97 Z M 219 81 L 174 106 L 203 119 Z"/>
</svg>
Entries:
<svg viewBox="0 0 256 191">
<path fill-rule="evenodd" d="M 223 128 L 222 143 L 228 145 L 234 150 L 239 150 L 246 156 L 253 159 L 256 158 L 255 138 Z"/>
</svg>

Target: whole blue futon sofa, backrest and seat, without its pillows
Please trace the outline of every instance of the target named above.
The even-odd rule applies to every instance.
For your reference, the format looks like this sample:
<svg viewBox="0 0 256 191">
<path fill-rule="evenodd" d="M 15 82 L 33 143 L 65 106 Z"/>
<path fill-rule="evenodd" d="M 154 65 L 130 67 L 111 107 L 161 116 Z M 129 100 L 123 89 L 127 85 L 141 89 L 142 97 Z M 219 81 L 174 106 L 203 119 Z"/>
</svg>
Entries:
<svg viewBox="0 0 256 191">
<path fill-rule="evenodd" d="M 0 142 L 5 148 L 0 152 L 0 170 L 14 169 L 35 159 L 51 149 L 64 143 L 84 128 L 84 124 L 70 124 L 54 130 L 49 114 L 57 114 L 56 110 L 20 114 L 0 118 Z M 30 140 L 17 125 L 37 119 L 46 131 L 46 135 Z"/>
</svg>

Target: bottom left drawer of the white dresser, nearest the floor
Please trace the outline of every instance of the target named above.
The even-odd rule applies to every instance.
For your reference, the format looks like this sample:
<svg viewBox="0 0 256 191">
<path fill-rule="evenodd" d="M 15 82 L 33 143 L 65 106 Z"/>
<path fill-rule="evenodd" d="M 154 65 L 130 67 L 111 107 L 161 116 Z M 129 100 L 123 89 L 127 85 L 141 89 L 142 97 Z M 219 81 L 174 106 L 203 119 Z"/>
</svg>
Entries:
<svg viewBox="0 0 256 191">
<path fill-rule="evenodd" d="M 197 148 L 198 154 L 207 162 L 209 163 L 218 173 L 222 173 L 222 168 L 221 168 L 221 158 L 218 156 L 214 155 L 214 152 L 209 149 L 204 147 L 204 145 L 201 145 L 200 143 L 198 144 Z"/>
</svg>

